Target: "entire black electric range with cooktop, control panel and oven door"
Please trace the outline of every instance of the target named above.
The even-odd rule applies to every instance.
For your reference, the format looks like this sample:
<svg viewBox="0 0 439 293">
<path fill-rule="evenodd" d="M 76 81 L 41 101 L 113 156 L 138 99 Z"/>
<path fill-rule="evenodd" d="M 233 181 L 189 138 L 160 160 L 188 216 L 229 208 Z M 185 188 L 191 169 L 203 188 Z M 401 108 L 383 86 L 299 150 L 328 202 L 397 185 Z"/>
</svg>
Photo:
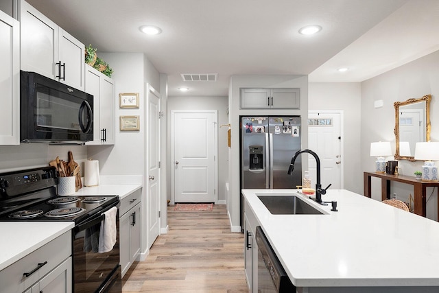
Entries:
<svg viewBox="0 0 439 293">
<path fill-rule="evenodd" d="M 58 196 L 57 184 L 54 167 L 0 174 L 0 222 L 73 221 L 73 292 L 120 293 L 119 197 Z M 101 246 L 108 220 L 117 231 L 112 248 Z"/>
</svg>

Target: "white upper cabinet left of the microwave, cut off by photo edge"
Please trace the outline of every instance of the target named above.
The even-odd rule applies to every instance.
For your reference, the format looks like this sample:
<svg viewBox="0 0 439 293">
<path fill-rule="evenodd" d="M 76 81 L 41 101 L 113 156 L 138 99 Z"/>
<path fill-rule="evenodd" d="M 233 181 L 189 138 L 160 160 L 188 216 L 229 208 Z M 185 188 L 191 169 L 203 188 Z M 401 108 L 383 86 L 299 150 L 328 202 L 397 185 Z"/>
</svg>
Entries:
<svg viewBox="0 0 439 293">
<path fill-rule="evenodd" d="M 20 24 L 0 11 L 0 145 L 20 143 Z"/>
</svg>

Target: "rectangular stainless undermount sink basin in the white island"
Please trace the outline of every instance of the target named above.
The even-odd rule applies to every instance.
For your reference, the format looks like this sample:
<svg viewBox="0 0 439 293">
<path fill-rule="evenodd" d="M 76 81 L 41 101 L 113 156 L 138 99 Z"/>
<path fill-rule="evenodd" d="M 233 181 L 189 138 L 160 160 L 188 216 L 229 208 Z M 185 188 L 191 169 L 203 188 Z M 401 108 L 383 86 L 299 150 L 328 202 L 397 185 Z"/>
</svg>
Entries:
<svg viewBox="0 0 439 293">
<path fill-rule="evenodd" d="M 298 196 L 257 196 L 273 215 L 323 215 Z"/>
</svg>

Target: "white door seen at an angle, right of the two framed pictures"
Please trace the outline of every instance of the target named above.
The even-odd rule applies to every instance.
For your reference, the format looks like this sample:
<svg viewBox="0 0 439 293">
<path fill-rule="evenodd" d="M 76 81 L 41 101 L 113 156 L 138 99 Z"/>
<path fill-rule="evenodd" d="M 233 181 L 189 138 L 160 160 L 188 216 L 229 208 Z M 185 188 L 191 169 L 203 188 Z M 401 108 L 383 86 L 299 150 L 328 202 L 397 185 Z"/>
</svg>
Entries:
<svg viewBox="0 0 439 293">
<path fill-rule="evenodd" d="M 147 244 L 152 246 L 160 231 L 160 94 L 147 84 Z"/>
</svg>

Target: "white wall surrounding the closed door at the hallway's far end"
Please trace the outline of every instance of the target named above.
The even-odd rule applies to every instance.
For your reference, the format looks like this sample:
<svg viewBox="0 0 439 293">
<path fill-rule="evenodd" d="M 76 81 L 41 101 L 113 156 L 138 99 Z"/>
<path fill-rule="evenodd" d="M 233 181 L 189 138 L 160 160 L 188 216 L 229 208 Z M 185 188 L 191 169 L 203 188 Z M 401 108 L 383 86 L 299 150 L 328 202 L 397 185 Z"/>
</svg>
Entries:
<svg viewBox="0 0 439 293">
<path fill-rule="evenodd" d="M 171 199 L 171 110 L 218 110 L 218 202 L 225 203 L 225 184 L 228 179 L 228 147 L 227 127 L 219 128 L 228 124 L 228 98 L 227 97 L 169 97 L 167 104 L 167 197 Z"/>
</svg>

